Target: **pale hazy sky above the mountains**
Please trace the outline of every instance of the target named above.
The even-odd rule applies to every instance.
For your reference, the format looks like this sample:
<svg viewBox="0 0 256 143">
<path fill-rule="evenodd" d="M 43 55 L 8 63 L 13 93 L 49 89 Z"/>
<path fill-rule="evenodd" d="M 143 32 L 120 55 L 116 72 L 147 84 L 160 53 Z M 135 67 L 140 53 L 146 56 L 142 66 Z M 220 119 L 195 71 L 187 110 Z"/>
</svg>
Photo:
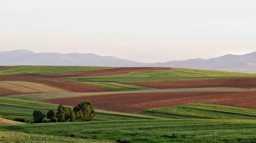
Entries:
<svg viewBox="0 0 256 143">
<path fill-rule="evenodd" d="M 256 1 L 0 0 L 0 51 L 166 62 L 256 51 Z"/>
</svg>

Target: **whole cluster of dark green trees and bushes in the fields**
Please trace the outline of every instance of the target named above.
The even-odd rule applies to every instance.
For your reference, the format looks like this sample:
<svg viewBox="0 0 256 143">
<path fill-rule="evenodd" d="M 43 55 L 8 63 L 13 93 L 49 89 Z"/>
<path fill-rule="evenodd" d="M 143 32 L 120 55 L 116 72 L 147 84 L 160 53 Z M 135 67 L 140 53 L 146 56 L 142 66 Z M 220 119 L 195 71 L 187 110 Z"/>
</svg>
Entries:
<svg viewBox="0 0 256 143">
<path fill-rule="evenodd" d="M 91 121 L 94 116 L 95 111 L 90 102 L 82 102 L 73 109 L 59 105 L 56 114 L 53 110 L 49 110 L 46 115 L 39 110 L 34 110 L 33 113 L 34 123 L 46 122 L 45 117 L 48 119 L 47 122 L 76 122 Z"/>
</svg>

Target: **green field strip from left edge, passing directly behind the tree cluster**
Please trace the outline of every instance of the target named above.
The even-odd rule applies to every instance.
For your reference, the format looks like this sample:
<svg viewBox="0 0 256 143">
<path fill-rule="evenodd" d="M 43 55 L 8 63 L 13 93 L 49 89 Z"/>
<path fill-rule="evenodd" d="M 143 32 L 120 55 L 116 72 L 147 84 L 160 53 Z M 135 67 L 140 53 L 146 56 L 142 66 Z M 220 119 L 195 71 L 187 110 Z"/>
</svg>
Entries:
<svg viewBox="0 0 256 143">
<path fill-rule="evenodd" d="M 26 122 L 33 121 L 32 113 L 35 109 L 46 113 L 52 109 L 56 111 L 56 104 L 48 104 L 20 99 L 10 99 L 0 97 L 0 117 L 14 120 L 15 118 L 23 118 Z M 117 113 L 110 111 L 96 110 L 95 121 L 108 120 L 138 120 L 138 119 L 155 119 L 140 115 L 130 115 L 125 113 Z"/>
</svg>

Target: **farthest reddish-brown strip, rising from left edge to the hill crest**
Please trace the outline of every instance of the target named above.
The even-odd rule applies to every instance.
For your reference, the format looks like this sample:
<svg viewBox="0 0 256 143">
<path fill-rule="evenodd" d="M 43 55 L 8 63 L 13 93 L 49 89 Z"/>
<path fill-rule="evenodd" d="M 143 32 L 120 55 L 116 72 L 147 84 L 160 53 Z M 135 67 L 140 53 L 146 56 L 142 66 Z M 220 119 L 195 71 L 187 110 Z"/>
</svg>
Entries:
<svg viewBox="0 0 256 143">
<path fill-rule="evenodd" d="M 12 75 L 12 76 L 0 76 L 0 81 L 14 81 L 14 80 L 40 80 L 40 79 L 58 79 L 63 77 L 77 77 L 77 76 L 99 76 L 99 75 L 117 75 L 125 74 L 136 71 L 145 70 L 169 70 L 171 68 L 155 68 L 155 67 L 143 67 L 143 68 L 116 68 L 98 71 L 76 72 L 76 73 L 61 73 L 61 74 L 24 74 L 24 75 Z"/>
</svg>

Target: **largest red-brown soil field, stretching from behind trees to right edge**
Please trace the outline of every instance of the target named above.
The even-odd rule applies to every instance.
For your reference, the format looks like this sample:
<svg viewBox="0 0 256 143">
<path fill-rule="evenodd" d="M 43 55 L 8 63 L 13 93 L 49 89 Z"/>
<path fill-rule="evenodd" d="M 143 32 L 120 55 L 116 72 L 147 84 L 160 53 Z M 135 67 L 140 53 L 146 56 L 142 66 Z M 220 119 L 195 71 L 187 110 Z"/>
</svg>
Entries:
<svg viewBox="0 0 256 143">
<path fill-rule="evenodd" d="M 221 102 L 225 101 L 226 102 Z M 136 113 L 148 108 L 173 106 L 196 102 L 209 102 L 229 106 L 256 108 L 256 92 L 241 93 L 135 93 L 98 96 L 82 96 L 45 100 L 47 103 L 75 106 L 82 101 L 90 101 L 97 109 Z M 239 101 L 239 104 L 237 104 Z"/>
</svg>

